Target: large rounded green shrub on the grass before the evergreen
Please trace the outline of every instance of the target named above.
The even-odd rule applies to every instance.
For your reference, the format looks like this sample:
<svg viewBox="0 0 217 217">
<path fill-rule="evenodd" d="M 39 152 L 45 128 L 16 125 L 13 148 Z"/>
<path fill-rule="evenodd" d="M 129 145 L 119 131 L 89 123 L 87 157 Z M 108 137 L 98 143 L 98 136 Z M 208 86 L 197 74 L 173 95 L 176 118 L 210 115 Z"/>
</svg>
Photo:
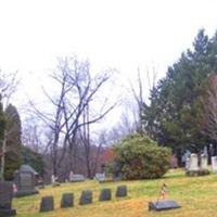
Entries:
<svg viewBox="0 0 217 217">
<path fill-rule="evenodd" d="M 124 179 L 159 178 L 170 166 L 170 150 L 145 136 L 128 136 L 113 149 L 116 154 L 113 171 Z"/>
</svg>

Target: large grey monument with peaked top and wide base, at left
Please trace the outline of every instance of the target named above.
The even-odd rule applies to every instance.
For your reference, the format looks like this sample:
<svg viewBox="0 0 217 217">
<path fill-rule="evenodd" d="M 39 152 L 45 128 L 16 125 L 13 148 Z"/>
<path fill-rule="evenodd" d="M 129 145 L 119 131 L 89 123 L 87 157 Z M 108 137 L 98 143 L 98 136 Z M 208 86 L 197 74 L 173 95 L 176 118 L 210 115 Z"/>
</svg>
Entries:
<svg viewBox="0 0 217 217">
<path fill-rule="evenodd" d="M 35 189 L 35 170 L 28 165 L 22 165 L 20 170 L 15 173 L 14 182 L 17 191 L 15 196 L 26 196 L 38 193 Z"/>
</svg>

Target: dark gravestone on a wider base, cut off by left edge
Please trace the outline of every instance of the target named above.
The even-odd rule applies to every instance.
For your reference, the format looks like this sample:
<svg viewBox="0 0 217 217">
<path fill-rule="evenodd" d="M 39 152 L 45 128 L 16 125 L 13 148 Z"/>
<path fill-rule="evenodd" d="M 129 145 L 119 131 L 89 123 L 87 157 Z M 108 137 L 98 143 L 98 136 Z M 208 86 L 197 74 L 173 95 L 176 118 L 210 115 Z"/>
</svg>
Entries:
<svg viewBox="0 0 217 217">
<path fill-rule="evenodd" d="M 16 210 L 11 208 L 13 199 L 13 183 L 0 181 L 0 216 L 15 216 Z"/>
</svg>

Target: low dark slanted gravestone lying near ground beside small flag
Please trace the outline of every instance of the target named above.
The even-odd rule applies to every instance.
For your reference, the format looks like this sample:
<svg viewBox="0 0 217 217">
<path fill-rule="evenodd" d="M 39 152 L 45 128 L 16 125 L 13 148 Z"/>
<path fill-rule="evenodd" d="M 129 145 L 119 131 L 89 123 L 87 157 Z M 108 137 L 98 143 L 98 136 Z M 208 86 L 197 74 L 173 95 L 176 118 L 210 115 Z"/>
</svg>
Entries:
<svg viewBox="0 0 217 217">
<path fill-rule="evenodd" d="M 180 207 L 176 201 L 149 202 L 149 210 L 166 210 Z"/>
</svg>

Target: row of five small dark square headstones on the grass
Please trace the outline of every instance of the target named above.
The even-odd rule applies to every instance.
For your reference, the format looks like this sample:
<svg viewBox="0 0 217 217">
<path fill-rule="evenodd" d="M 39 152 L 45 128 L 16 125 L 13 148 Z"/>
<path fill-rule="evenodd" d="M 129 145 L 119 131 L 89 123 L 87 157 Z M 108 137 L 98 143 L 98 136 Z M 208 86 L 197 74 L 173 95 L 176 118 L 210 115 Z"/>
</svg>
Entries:
<svg viewBox="0 0 217 217">
<path fill-rule="evenodd" d="M 116 197 L 127 196 L 127 187 L 119 186 L 116 190 Z M 110 201 L 112 200 L 111 189 L 102 189 L 99 201 Z M 79 205 L 86 205 L 92 203 L 92 191 L 87 190 L 82 191 L 79 200 Z M 74 193 L 64 193 L 61 199 L 61 207 L 73 207 L 74 206 Z M 54 200 L 53 196 L 43 196 L 40 203 L 40 212 L 49 212 L 54 209 Z"/>
</svg>

